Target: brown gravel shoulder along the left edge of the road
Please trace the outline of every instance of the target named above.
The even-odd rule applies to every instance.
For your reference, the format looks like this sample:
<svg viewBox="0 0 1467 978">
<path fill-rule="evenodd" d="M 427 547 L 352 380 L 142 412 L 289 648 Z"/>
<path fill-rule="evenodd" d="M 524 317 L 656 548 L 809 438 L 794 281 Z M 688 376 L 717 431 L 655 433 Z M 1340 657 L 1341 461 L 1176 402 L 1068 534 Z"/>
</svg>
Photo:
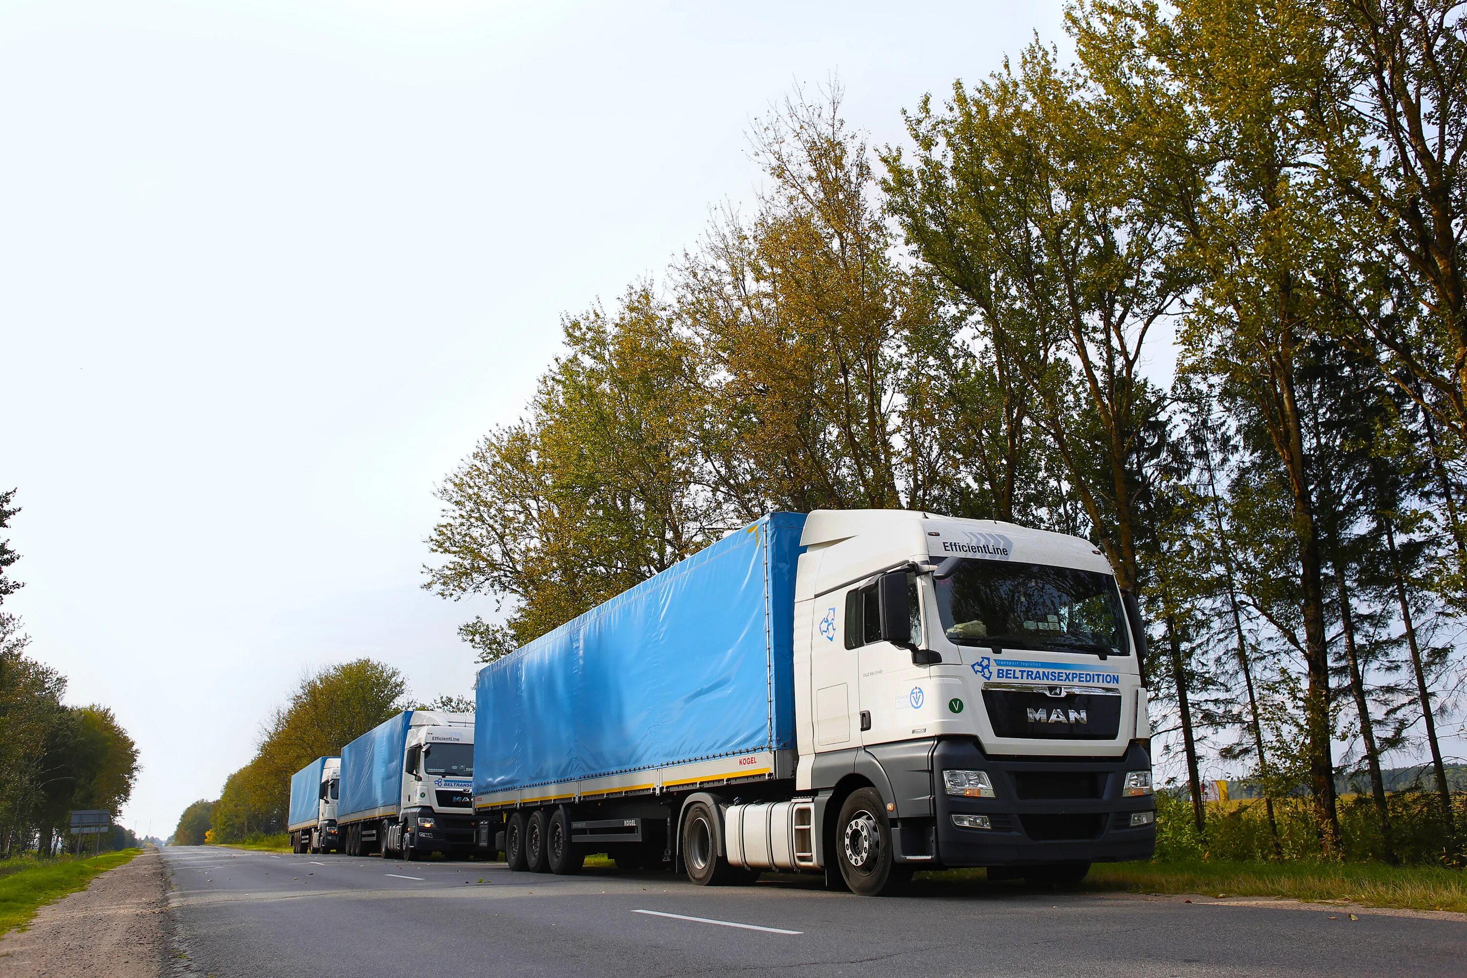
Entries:
<svg viewBox="0 0 1467 978">
<path fill-rule="evenodd" d="M 167 956 L 163 858 L 145 849 L 0 938 L 6 978 L 157 978 Z"/>
</svg>

